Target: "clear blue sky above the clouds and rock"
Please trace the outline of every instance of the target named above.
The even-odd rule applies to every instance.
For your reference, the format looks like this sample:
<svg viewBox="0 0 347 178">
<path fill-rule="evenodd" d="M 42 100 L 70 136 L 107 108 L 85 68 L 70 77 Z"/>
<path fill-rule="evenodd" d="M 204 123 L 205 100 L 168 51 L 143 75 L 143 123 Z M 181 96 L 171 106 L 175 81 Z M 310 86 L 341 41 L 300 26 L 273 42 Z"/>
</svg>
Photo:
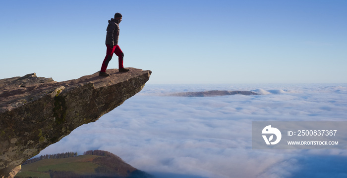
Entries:
<svg viewBox="0 0 347 178">
<path fill-rule="evenodd" d="M 0 78 L 99 71 L 116 12 L 148 83 L 347 82 L 346 0 L 2 0 Z"/>
</svg>

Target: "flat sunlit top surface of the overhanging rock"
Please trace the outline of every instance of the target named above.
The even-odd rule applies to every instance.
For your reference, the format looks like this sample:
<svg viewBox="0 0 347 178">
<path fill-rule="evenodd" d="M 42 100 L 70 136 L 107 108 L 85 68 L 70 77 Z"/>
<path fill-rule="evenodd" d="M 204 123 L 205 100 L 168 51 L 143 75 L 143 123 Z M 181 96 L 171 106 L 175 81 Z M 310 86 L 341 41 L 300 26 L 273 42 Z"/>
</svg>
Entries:
<svg viewBox="0 0 347 178">
<path fill-rule="evenodd" d="M 118 69 L 109 69 L 107 70 L 107 73 L 110 74 L 108 77 L 99 76 L 99 72 L 95 72 L 94 74 L 85 75 L 78 79 L 62 82 L 54 81 L 52 78 L 37 77 L 35 73 L 27 74 L 23 77 L 0 79 L 0 113 L 33 101 L 35 97 L 40 97 L 43 93 L 53 92 L 61 86 L 69 87 L 92 82 L 94 88 L 99 88 L 126 81 L 144 72 L 151 73 L 151 71 L 143 71 L 135 68 L 126 69 L 130 69 L 130 71 L 118 72 Z"/>
</svg>

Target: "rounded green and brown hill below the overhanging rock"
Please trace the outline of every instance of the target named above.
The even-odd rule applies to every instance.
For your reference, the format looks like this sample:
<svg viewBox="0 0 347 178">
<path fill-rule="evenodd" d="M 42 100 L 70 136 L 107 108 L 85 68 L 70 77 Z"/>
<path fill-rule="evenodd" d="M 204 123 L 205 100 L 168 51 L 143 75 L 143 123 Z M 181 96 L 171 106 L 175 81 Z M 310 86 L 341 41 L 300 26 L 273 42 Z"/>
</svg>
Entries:
<svg viewBox="0 0 347 178">
<path fill-rule="evenodd" d="M 15 178 L 153 178 L 108 151 L 90 150 L 80 156 L 68 153 L 72 154 L 66 158 L 44 155 L 41 160 L 28 160 Z"/>
</svg>

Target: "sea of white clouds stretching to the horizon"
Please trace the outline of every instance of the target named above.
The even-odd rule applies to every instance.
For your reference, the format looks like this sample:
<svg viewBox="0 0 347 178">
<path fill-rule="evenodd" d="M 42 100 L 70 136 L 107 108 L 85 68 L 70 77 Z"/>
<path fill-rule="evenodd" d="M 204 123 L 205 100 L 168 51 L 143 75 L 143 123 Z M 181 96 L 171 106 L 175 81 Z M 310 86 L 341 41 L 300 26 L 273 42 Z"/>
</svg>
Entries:
<svg viewBox="0 0 347 178">
<path fill-rule="evenodd" d="M 168 96 L 208 90 L 261 95 Z M 252 121 L 347 121 L 347 84 L 150 84 L 40 155 L 107 150 L 162 178 L 347 177 L 347 150 L 252 149 Z"/>
</svg>

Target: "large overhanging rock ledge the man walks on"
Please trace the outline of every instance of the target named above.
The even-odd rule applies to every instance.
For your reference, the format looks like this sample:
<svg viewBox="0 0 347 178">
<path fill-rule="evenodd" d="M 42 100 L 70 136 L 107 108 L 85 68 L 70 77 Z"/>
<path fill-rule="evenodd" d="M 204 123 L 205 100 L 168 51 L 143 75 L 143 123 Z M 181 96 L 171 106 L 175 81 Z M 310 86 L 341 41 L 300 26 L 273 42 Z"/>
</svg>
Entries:
<svg viewBox="0 0 347 178">
<path fill-rule="evenodd" d="M 110 69 L 109 77 L 97 72 L 63 82 L 35 73 L 1 79 L 0 178 L 10 177 L 42 149 L 141 91 L 152 72 L 128 69 Z"/>
</svg>

